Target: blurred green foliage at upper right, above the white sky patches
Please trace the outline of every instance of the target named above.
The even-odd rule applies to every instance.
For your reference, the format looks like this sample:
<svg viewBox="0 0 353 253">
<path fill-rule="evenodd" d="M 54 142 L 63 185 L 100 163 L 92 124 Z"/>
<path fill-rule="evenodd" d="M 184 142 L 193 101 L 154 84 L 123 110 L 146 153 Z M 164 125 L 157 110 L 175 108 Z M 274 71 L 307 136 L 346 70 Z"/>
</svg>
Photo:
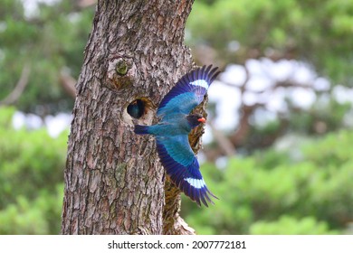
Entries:
<svg viewBox="0 0 353 253">
<path fill-rule="evenodd" d="M 309 61 L 324 76 L 346 85 L 352 83 L 352 1 L 212 2 L 196 1 L 193 5 L 186 25 L 190 45 L 207 43 L 226 62 L 243 62 L 275 52 L 275 58 Z M 233 41 L 240 43 L 237 52 L 227 49 Z"/>
</svg>

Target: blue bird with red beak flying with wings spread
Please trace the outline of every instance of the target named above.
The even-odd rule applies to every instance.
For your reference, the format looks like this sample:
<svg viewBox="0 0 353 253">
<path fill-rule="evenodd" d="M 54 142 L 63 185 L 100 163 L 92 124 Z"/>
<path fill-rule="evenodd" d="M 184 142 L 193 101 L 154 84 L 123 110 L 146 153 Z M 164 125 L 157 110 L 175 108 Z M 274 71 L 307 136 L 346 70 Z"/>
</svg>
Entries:
<svg viewBox="0 0 353 253">
<path fill-rule="evenodd" d="M 196 155 L 188 141 L 190 131 L 205 118 L 190 114 L 204 99 L 207 89 L 219 74 L 212 65 L 192 70 L 177 81 L 157 108 L 159 123 L 153 126 L 135 126 L 138 135 L 156 136 L 157 153 L 171 181 L 191 200 L 201 206 L 214 203 L 200 173 Z"/>
</svg>

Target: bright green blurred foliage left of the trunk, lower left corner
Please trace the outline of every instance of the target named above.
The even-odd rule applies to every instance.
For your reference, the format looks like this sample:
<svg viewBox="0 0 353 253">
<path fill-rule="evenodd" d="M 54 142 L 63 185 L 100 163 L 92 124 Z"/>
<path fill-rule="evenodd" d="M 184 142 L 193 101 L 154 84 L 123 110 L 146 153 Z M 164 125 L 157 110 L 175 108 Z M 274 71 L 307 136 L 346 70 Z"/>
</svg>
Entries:
<svg viewBox="0 0 353 253">
<path fill-rule="evenodd" d="M 13 114 L 0 108 L 0 234 L 57 234 L 67 133 L 14 130 Z"/>
</svg>

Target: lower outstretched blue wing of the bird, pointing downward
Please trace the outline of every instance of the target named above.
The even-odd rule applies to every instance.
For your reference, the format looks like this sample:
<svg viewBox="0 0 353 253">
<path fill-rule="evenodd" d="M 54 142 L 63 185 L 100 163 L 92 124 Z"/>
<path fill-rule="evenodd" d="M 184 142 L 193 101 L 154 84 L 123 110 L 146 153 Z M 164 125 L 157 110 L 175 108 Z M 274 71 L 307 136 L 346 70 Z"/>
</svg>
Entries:
<svg viewBox="0 0 353 253">
<path fill-rule="evenodd" d="M 201 202 L 205 206 L 208 206 L 207 201 L 214 203 L 211 197 L 217 197 L 207 189 L 186 135 L 158 136 L 157 152 L 172 182 L 186 196 L 199 206 Z"/>
</svg>

